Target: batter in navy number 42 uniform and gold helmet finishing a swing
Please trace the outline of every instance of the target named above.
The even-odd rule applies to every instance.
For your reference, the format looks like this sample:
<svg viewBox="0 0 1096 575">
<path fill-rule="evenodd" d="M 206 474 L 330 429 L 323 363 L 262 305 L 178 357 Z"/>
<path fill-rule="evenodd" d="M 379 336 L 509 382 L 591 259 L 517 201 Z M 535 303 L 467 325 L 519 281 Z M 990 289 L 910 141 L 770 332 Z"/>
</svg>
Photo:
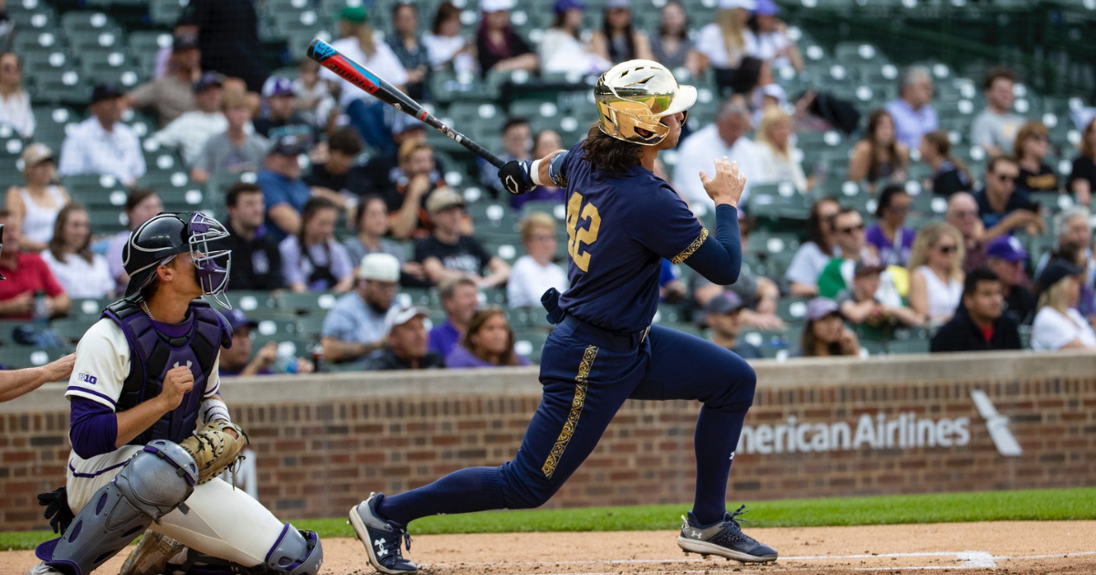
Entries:
<svg viewBox="0 0 1096 575">
<path fill-rule="evenodd" d="M 544 398 L 512 461 L 465 469 L 398 495 L 372 494 L 350 511 L 369 563 L 386 574 L 415 573 L 402 556 L 409 522 L 434 514 L 521 509 L 547 502 L 586 459 L 625 400 L 699 400 L 696 494 L 677 544 L 742 562 L 776 551 L 744 534 L 727 513 L 727 480 L 756 378 L 735 354 L 651 320 L 663 258 L 709 280 L 738 279 L 737 205 L 745 185 L 727 158 L 709 177 L 716 204 L 709 234 L 682 198 L 653 173 L 660 150 L 677 145 L 696 89 L 678 85 L 649 60 L 619 64 L 594 89 L 598 123 L 585 140 L 500 171 L 514 194 L 533 185 L 567 189 L 568 276 L 562 296 L 543 301 L 556 324 L 541 354 Z"/>
</svg>

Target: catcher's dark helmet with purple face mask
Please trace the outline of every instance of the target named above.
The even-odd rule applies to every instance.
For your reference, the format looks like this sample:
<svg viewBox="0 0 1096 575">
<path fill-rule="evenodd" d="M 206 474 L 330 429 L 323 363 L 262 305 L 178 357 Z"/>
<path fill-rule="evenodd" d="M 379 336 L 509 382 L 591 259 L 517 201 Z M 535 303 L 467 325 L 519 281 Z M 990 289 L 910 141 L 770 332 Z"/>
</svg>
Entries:
<svg viewBox="0 0 1096 575">
<path fill-rule="evenodd" d="M 228 273 L 232 266 L 229 250 L 214 250 L 209 242 L 228 237 L 228 230 L 201 211 L 193 214 L 161 212 L 129 234 L 122 249 L 122 265 L 129 275 L 126 297 L 136 298 L 156 277 L 157 266 L 190 252 L 194 274 L 202 290 L 225 308 L 231 308 L 224 297 Z"/>
</svg>

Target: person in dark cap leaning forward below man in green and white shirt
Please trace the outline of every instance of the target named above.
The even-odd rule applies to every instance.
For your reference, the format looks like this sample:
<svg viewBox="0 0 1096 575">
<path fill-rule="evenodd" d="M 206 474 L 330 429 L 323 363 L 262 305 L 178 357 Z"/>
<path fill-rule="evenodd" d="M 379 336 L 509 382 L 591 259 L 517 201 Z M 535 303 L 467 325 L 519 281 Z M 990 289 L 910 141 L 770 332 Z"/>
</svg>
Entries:
<svg viewBox="0 0 1096 575">
<path fill-rule="evenodd" d="M 921 313 L 905 306 L 888 306 L 876 297 L 879 291 L 879 276 L 887 266 L 860 260 L 853 271 L 853 287 L 837 295 L 837 306 L 845 321 L 863 325 L 879 336 L 889 335 L 901 326 L 920 326 L 925 323 Z M 881 338 L 880 337 L 880 338 Z"/>
</svg>

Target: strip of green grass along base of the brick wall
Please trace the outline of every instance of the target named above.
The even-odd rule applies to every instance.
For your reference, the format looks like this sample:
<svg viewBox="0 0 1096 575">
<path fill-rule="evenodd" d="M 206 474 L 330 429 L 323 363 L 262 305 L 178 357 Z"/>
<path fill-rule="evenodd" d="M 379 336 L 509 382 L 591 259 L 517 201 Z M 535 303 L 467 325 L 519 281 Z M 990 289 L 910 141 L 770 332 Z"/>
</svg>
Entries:
<svg viewBox="0 0 1096 575">
<path fill-rule="evenodd" d="M 688 504 L 488 511 L 426 517 L 411 534 L 528 531 L 675 530 Z M 829 499 L 779 499 L 750 504 L 747 528 L 956 521 L 1049 521 L 1096 519 L 1096 487 L 998 491 Z M 345 518 L 293 521 L 320 537 L 353 537 Z M 0 549 L 32 549 L 52 532 L 0 532 Z"/>
</svg>

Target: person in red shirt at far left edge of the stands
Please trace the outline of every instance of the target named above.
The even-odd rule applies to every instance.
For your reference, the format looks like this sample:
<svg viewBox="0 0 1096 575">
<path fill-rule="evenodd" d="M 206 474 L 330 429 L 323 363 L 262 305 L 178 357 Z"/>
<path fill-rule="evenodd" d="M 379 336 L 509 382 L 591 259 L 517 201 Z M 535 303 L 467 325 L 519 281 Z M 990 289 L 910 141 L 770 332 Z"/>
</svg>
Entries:
<svg viewBox="0 0 1096 575">
<path fill-rule="evenodd" d="M 68 315 L 72 300 L 57 283 L 42 256 L 21 250 L 20 223 L 8 211 L 0 211 L 4 227 L 4 250 L 0 251 L 0 318 L 31 320 L 38 312 L 46 318 Z M 35 309 L 38 295 L 45 298 L 45 309 Z"/>
</svg>

